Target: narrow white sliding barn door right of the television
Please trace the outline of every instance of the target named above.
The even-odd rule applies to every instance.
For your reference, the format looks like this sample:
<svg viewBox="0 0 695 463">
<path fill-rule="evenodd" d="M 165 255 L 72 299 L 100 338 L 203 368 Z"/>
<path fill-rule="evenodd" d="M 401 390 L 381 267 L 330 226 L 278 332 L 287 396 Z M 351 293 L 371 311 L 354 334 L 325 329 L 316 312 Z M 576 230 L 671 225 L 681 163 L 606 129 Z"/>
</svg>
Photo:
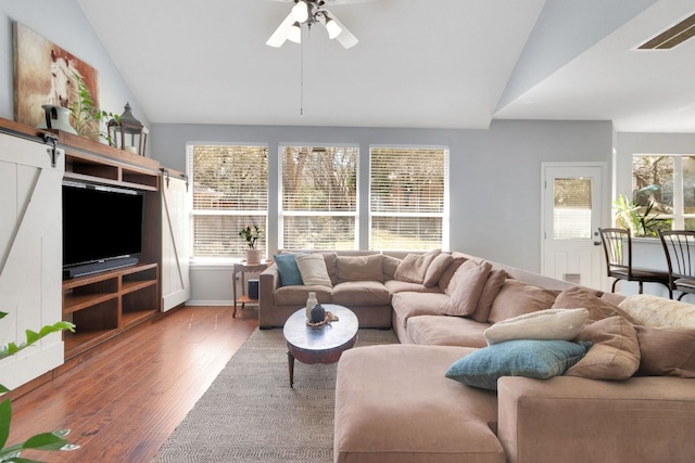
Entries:
<svg viewBox="0 0 695 463">
<path fill-rule="evenodd" d="M 188 185 L 180 178 L 162 178 L 162 311 L 191 297 L 189 275 L 190 213 Z"/>
</svg>

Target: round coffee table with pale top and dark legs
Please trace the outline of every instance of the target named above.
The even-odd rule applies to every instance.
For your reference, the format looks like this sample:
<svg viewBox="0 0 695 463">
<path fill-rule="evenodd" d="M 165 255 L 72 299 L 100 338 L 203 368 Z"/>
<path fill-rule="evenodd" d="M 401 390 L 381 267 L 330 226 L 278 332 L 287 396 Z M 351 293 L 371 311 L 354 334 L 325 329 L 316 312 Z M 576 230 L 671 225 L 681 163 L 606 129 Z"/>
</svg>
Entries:
<svg viewBox="0 0 695 463">
<path fill-rule="evenodd" d="M 282 332 L 287 340 L 287 359 L 290 368 L 290 387 L 294 385 L 294 359 L 302 363 L 336 363 L 343 351 L 357 342 L 357 317 L 346 307 L 321 304 L 326 311 L 338 316 L 338 321 L 319 327 L 306 324 L 306 311 L 292 313 Z"/>
</svg>

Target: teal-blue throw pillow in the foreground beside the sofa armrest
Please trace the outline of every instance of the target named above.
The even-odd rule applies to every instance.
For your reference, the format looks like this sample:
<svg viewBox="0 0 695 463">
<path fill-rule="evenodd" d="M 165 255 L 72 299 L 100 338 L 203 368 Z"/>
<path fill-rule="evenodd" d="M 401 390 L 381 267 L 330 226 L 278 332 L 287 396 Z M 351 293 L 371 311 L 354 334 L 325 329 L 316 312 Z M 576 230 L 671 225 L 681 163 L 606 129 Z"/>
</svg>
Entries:
<svg viewBox="0 0 695 463">
<path fill-rule="evenodd" d="M 444 375 L 468 386 L 497 390 L 502 376 L 559 376 L 580 361 L 590 346 L 569 340 L 507 340 L 456 360 Z"/>
</svg>

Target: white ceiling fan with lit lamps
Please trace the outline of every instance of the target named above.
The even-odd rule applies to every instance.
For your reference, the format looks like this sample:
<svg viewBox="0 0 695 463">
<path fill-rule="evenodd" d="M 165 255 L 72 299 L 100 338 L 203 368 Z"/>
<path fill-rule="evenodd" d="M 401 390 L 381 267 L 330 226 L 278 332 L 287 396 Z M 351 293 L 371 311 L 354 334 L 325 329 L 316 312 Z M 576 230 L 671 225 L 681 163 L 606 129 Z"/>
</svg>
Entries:
<svg viewBox="0 0 695 463">
<path fill-rule="evenodd" d="M 357 44 L 359 40 L 331 13 L 324 8 L 324 0 L 292 0 L 294 7 L 290 14 L 280 23 L 280 26 L 273 33 L 267 46 L 282 47 L 286 40 L 294 43 L 302 42 L 302 25 L 306 25 L 309 29 L 314 24 L 321 24 L 328 31 L 328 37 L 336 39 L 345 49 L 350 49 Z M 332 0 L 337 2 L 337 0 Z M 346 1 L 344 1 L 346 2 Z"/>
</svg>

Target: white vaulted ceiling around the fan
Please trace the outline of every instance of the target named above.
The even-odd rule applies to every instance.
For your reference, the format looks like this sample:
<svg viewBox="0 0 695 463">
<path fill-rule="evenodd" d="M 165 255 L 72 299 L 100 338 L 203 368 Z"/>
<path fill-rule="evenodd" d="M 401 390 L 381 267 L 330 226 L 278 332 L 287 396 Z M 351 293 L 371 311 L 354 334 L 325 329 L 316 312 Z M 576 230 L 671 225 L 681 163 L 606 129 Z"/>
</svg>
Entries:
<svg viewBox="0 0 695 463">
<path fill-rule="evenodd" d="M 267 47 L 291 0 L 78 2 L 152 123 L 695 132 L 695 39 L 637 49 L 695 0 L 326 0 L 349 50 Z"/>
</svg>

